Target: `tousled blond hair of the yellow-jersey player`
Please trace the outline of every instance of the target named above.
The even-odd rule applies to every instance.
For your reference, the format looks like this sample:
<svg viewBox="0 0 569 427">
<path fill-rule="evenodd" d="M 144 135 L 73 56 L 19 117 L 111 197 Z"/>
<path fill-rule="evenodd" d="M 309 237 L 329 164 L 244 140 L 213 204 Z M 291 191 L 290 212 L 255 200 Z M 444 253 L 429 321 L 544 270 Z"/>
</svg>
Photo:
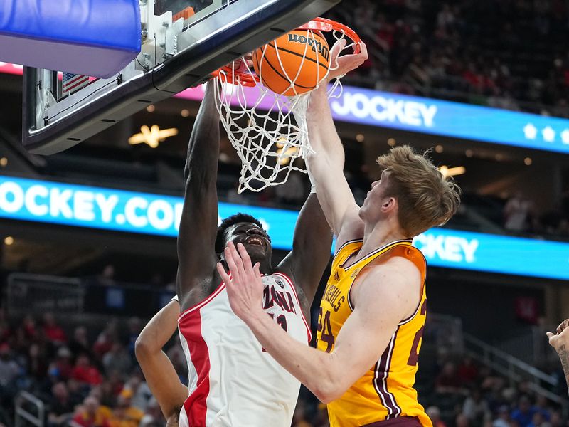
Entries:
<svg viewBox="0 0 569 427">
<path fill-rule="evenodd" d="M 398 202 L 398 221 L 412 238 L 433 226 L 440 226 L 456 213 L 460 188 L 446 179 L 425 154 L 408 145 L 394 147 L 378 157 L 382 169 L 389 169 L 388 196 Z"/>
</svg>

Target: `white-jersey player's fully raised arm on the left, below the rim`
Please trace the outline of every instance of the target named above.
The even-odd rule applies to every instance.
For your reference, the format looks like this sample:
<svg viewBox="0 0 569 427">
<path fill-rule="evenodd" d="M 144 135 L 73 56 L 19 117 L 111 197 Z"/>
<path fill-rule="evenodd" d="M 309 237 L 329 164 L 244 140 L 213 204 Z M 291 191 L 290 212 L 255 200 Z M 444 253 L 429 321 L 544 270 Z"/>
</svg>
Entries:
<svg viewBox="0 0 569 427">
<path fill-rule="evenodd" d="M 184 168 L 186 191 L 178 235 L 178 278 L 180 305 L 199 299 L 203 283 L 216 265 L 218 225 L 217 174 L 219 157 L 219 113 L 212 81 L 206 86 L 193 125 Z"/>
</svg>

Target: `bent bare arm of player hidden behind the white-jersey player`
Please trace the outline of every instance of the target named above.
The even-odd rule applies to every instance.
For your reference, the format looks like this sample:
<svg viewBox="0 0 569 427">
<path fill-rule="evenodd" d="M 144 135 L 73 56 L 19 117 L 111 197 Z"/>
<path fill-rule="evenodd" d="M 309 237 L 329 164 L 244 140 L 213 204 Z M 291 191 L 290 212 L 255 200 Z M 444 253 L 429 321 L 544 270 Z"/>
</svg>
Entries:
<svg viewBox="0 0 569 427">
<path fill-rule="evenodd" d="M 166 419 L 176 416 L 188 397 L 188 388 L 181 384 L 172 362 L 162 351 L 176 332 L 179 314 L 180 305 L 172 300 L 152 317 L 134 346 L 144 378 Z"/>
</svg>

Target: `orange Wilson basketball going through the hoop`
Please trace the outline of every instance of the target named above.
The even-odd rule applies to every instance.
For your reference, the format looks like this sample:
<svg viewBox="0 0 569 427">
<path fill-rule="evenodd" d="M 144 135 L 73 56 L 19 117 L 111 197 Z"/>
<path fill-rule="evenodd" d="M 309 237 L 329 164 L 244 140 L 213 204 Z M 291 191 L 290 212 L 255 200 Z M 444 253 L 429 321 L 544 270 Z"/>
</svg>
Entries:
<svg viewBox="0 0 569 427">
<path fill-rule="evenodd" d="M 326 39 L 310 30 L 294 30 L 253 52 L 261 83 L 280 95 L 300 95 L 317 87 L 328 72 Z"/>
</svg>

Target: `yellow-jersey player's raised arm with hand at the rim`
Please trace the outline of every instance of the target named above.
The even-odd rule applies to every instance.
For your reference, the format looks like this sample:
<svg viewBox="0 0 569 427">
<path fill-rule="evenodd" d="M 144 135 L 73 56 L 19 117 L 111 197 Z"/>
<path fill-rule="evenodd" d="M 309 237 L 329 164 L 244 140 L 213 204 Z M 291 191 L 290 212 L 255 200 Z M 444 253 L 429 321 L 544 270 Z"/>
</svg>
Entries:
<svg viewBox="0 0 569 427">
<path fill-rule="evenodd" d="M 317 184 L 318 199 L 326 219 L 336 236 L 345 223 L 358 221 L 359 207 L 344 177 L 344 147 L 332 120 L 326 85 L 331 78 L 357 68 L 367 58 L 363 43 L 361 53 L 338 57 L 345 43 L 339 41 L 332 48 L 330 74 L 310 95 L 307 113 L 310 144 L 315 152 L 307 156 L 307 166 Z"/>
</svg>

